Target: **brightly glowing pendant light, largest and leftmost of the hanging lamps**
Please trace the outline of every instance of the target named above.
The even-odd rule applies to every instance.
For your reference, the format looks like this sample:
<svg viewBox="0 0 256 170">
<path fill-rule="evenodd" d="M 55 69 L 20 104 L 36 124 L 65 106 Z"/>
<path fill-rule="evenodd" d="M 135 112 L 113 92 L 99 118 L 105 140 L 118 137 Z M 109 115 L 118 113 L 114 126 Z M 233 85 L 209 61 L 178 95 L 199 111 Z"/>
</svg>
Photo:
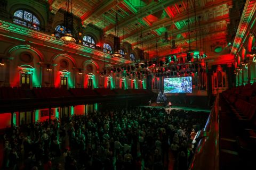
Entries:
<svg viewBox="0 0 256 170">
<path fill-rule="evenodd" d="M 64 13 L 64 34 L 60 39 L 68 44 L 75 43 L 76 39 L 73 37 L 73 13 L 72 13 L 72 0 L 66 1 L 66 10 Z"/>
</svg>

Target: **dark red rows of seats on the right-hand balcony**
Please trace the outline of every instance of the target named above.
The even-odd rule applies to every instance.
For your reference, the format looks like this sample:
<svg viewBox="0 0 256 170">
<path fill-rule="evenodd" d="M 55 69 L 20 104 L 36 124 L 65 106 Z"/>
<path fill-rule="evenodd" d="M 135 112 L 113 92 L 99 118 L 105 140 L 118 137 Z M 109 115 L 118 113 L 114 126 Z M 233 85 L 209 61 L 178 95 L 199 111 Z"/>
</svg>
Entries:
<svg viewBox="0 0 256 170">
<path fill-rule="evenodd" d="M 222 92 L 228 104 L 228 115 L 237 128 L 236 142 L 242 156 L 256 151 L 256 83 L 238 86 Z M 255 156 L 254 156 L 255 157 Z"/>
</svg>

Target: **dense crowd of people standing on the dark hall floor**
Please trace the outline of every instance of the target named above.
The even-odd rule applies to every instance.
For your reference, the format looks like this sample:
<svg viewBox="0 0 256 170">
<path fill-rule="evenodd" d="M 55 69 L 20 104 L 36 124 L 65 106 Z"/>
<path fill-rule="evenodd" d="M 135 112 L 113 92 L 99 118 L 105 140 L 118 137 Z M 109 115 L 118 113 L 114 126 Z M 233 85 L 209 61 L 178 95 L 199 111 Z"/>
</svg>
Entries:
<svg viewBox="0 0 256 170">
<path fill-rule="evenodd" d="M 207 113 L 118 108 L 36 122 L 3 135 L 6 169 L 187 169 Z"/>
</svg>

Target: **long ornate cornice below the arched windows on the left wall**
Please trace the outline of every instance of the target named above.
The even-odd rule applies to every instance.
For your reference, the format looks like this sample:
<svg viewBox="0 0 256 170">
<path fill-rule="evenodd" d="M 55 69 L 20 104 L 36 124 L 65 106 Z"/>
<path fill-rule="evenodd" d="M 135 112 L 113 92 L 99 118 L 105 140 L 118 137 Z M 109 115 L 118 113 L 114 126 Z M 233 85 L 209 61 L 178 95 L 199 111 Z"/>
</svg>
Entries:
<svg viewBox="0 0 256 170">
<path fill-rule="evenodd" d="M 108 59 L 108 60 L 113 61 L 113 62 L 124 63 L 123 58 L 111 58 L 109 56 L 109 54 L 103 53 L 103 52 L 101 52 L 99 50 L 96 50 L 96 49 L 93 49 L 93 48 L 78 45 L 78 44 L 64 44 L 61 40 L 57 40 L 55 37 L 52 37 L 50 35 L 46 35 L 45 33 L 38 32 L 36 30 L 31 30 L 31 29 L 22 27 L 20 25 L 14 24 L 14 23 L 10 23 L 10 22 L 0 20 L 0 30 L 16 33 L 17 35 L 22 35 L 22 36 L 27 36 L 27 37 L 30 37 L 30 38 L 36 38 L 36 39 L 39 39 L 39 40 L 43 40 L 43 41 L 46 41 L 46 42 L 54 44 L 54 45 L 59 45 L 61 47 L 65 47 L 65 49 L 66 48 L 75 49 L 78 52 L 81 52 L 82 54 L 84 54 L 84 53 L 92 54 L 92 55 L 95 56 L 96 60 L 99 60 L 99 57 L 101 57 L 100 60 Z M 31 43 L 33 43 L 33 42 L 31 42 Z M 34 43 L 34 44 L 36 44 L 36 43 Z M 42 44 L 42 45 L 44 45 L 44 44 Z M 77 54 L 81 55 L 80 53 L 77 53 Z M 92 58 L 94 58 L 94 57 L 92 57 Z M 131 63 L 131 62 L 125 60 L 125 63 Z"/>
</svg>

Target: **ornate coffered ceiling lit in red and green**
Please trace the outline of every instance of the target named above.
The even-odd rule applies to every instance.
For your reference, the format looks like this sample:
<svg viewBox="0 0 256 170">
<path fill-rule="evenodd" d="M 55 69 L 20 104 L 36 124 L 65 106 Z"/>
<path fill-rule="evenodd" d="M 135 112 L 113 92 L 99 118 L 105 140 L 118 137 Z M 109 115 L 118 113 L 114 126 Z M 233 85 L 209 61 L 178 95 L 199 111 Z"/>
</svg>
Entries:
<svg viewBox="0 0 256 170">
<path fill-rule="evenodd" d="M 66 0 L 48 0 L 48 3 L 51 12 L 56 13 L 60 8 L 65 9 Z M 73 0 L 72 3 L 73 14 L 81 18 L 84 27 L 93 24 L 107 35 L 115 32 L 117 12 L 121 41 L 132 44 L 133 49 L 140 48 L 142 32 L 143 49 L 151 56 L 156 42 L 159 55 L 173 50 L 172 41 L 163 42 L 165 32 L 169 40 L 175 40 L 177 48 L 173 51 L 177 52 L 188 50 L 189 30 L 191 49 L 203 48 L 206 42 L 227 43 L 229 13 L 234 6 L 234 0 Z"/>
</svg>

